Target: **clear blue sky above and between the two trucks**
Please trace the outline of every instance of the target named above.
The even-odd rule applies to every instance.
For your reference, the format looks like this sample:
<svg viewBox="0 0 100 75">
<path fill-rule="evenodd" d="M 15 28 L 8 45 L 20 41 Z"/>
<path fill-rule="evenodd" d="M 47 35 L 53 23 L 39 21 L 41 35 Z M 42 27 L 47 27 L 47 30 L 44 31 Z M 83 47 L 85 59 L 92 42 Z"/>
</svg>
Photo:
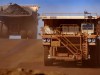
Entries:
<svg viewBox="0 0 100 75">
<path fill-rule="evenodd" d="M 97 13 L 100 15 L 100 0 L 0 0 L 0 5 L 9 3 L 17 3 L 20 5 L 38 5 L 40 9 L 39 14 L 42 13 L 83 13 L 88 12 Z M 40 20 L 38 28 L 43 22 Z M 38 30 L 38 32 L 40 29 Z"/>
</svg>

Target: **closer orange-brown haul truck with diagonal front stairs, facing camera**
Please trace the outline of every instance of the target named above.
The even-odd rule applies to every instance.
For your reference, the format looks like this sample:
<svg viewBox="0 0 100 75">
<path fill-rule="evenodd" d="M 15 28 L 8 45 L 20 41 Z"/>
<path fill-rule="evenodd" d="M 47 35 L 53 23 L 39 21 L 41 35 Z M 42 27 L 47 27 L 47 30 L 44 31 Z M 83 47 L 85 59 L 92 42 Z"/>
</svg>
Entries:
<svg viewBox="0 0 100 75">
<path fill-rule="evenodd" d="M 88 60 L 96 64 L 99 60 L 96 59 L 96 49 L 99 48 L 97 39 L 100 43 L 99 16 L 87 12 L 75 13 L 75 16 L 72 14 L 45 13 L 41 16 L 44 22 L 41 36 L 45 65 L 53 65 L 57 61 L 72 61 L 82 65 Z"/>
</svg>

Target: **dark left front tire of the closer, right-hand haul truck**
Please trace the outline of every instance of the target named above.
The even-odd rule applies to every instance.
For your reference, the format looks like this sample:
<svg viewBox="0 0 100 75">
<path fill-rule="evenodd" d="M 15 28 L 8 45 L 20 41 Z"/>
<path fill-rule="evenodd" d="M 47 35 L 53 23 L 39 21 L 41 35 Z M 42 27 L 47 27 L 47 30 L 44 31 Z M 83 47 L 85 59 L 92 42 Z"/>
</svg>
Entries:
<svg viewBox="0 0 100 75">
<path fill-rule="evenodd" d="M 49 55 L 49 47 L 44 46 L 44 65 L 45 66 L 52 66 L 53 65 L 53 60 L 48 59 L 48 55 Z"/>
</svg>

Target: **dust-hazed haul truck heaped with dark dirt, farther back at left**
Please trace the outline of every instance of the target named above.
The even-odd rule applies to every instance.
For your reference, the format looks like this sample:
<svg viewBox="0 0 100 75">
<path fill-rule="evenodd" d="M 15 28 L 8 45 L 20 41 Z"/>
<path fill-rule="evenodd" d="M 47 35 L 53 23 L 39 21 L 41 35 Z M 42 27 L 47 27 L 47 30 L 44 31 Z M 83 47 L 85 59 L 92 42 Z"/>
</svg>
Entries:
<svg viewBox="0 0 100 75">
<path fill-rule="evenodd" d="M 39 6 L 0 6 L 0 38 L 36 39 Z"/>
</svg>

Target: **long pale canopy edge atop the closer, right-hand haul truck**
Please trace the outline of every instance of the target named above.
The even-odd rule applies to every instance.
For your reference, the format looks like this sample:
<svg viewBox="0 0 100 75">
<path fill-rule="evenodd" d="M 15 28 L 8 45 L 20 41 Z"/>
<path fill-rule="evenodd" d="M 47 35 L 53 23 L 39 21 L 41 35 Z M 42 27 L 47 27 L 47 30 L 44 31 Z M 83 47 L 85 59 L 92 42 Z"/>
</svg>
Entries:
<svg viewBox="0 0 100 75">
<path fill-rule="evenodd" d="M 92 17 L 91 19 L 97 19 L 97 13 L 43 13 L 40 16 L 41 19 L 88 19 L 88 17 Z"/>
</svg>

